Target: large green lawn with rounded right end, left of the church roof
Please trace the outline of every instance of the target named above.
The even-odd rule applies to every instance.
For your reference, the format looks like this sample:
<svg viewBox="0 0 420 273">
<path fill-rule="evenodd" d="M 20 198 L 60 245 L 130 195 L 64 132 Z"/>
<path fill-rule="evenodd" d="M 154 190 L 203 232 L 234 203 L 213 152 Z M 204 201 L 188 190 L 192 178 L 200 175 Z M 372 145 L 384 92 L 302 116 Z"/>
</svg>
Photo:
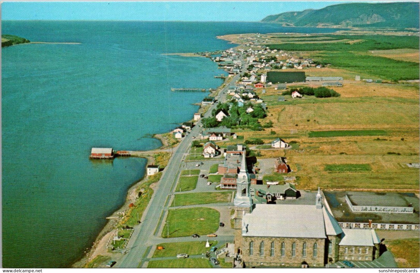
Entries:
<svg viewBox="0 0 420 273">
<path fill-rule="evenodd" d="M 166 222 L 169 223 L 169 237 L 185 237 L 192 234 L 206 235 L 219 228 L 220 213 L 210 208 L 171 209 Z M 162 237 L 167 238 L 168 224 Z"/>
</svg>

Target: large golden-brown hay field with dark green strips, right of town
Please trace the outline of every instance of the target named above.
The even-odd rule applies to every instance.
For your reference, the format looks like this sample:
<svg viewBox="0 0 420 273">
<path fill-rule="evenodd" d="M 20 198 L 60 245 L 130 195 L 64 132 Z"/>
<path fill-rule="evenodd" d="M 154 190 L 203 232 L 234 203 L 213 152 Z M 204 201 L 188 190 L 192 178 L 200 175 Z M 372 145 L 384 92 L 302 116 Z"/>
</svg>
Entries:
<svg viewBox="0 0 420 273">
<path fill-rule="evenodd" d="M 281 90 L 265 88 L 265 94 L 258 90 L 268 105 L 268 116 L 261 123 L 273 121 L 273 128 L 238 134 L 245 139 L 261 138 L 265 143 L 276 137 L 298 142 L 294 149 L 260 150 L 260 158 L 286 157 L 293 170 L 291 175 L 298 177 L 299 189 L 320 186 L 336 190 L 418 192 L 419 171 L 406 165 L 419 162 L 418 85 L 353 80 L 345 83 L 343 89 L 333 89 L 342 96 L 292 99 L 285 95 L 285 102 L 277 101 Z M 320 130 L 383 130 L 386 135 L 308 136 L 310 131 Z M 372 170 L 325 171 L 330 164 L 369 164 Z"/>
</svg>

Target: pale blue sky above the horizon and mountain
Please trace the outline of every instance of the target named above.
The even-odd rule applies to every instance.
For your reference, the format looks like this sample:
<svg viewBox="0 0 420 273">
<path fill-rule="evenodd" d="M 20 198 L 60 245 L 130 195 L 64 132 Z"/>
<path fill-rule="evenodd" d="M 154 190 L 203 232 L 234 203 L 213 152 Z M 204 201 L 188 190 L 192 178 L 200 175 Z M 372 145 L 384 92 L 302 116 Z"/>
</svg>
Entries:
<svg viewBox="0 0 420 273">
<path fill-rule="evenodd" d="M 349 2 L 5 2 L 2 20 L 260 21 Z"/>
</svg>

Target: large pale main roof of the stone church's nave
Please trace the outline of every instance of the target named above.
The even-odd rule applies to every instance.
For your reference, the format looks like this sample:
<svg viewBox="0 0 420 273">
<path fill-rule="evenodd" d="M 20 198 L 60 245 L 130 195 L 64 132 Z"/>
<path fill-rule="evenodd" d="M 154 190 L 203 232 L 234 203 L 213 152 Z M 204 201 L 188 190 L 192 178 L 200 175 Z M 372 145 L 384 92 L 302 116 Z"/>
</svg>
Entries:
<svg viewBox="0 0 420 273">
<path fill-rule="evenodd" d="M 326 238 L 324 210 L 315 205 L 257 204 L 243 216 L 249 237 Z M 332 220 L 328 218 L 328 223 Z M 334 220 L 335 221 L 335 220 Z M 328 233 L 333 232 L 328 224 Z M 334 226 L 333 226 L 334 227 Z M 334 229 L 334 232 L 335 231 Z"/>
</svg>

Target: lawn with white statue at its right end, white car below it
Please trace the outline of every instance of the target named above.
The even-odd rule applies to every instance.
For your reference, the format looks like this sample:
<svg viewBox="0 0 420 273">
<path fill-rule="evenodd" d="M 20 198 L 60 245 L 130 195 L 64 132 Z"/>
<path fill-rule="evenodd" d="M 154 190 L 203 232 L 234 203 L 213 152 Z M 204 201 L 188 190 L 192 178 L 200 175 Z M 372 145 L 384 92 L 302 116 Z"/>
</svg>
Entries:
<svg viewBox="0 0 420 273">
<path fill-rule="evenodd" d="M 210 247 L 217 245 L 217 241 L 209 241 Z M 157 247 L 163 247 L 158 250 Z M 163 243 L 156 246 L 155 253 L 152 258 L 160 257 L 175 257 L 177 254 L 186 253 L 188 255 L 200 255 L 210 250 L 206 248 L 206 242 L 177 242 L 177 243 Z"/>
</svg>

